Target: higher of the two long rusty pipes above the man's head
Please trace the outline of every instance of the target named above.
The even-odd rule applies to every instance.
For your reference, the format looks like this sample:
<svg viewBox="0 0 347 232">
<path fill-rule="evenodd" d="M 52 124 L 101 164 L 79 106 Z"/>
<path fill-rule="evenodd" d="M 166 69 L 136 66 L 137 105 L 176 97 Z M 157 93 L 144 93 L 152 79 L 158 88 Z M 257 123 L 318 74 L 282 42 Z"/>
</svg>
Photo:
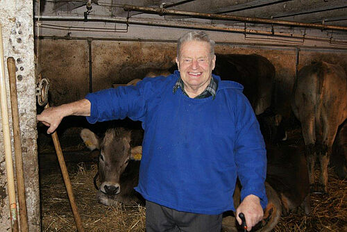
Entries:
<svg viewBox="0 0 347 232">
<path fill-rule="evenodd" d="M 318 28 L 321 30 L 338 30 L 338 31 L 347 31 L 347 26 L 333 26 L 333 25 L 323 25 L 323 24 L 309 24 L 302 22 L 292 22 L 276 19 L 263 19 L 257 17 L 242 17 L 242 16 L 232 16 L 232 15 L 217 15 L 217 14 L 208 14 L 208 13 L 196 13 L 191 11 L 182 11 L 182 10 L 168 10 L 164 8 L 150 8 L 144 6 L 130 6 L 124 5 L 124 10 L 128 11 L 139 11 L 144 13 L 151 13 L 156 15 L 183 15 L 188 17 L 197 17 L 203 19 L 216 19 L 216 20 L 228 20 L 228 21 L 238 21 L 238 22 L 251 22 L 258 24 L 273 24 L 281 26 L 296 26 L 303 28 Z"/>
</svg>

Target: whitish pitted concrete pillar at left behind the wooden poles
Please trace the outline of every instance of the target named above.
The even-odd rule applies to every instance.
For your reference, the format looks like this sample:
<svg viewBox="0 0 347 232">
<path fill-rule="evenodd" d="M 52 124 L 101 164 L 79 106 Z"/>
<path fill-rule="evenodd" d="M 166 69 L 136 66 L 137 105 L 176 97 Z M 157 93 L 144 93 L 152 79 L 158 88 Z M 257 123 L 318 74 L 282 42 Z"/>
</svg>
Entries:
<svg viewBox="0 0 347 232">
<path fill-rule="evenodd" d="M 0 1 L 0 9 L 0 24 L 2 25 L 3 50 L 5 56 L 3 61 L 5 62 L 6 68 L 6 89 L 8 92 L 9 113 L 11 110 L 6 67 L 7 58 L 10 56 L 15 58 L 17 67 L 17 94 L 22 136 L 28 224 L 30 231 L 40 231 L 40 194 L 36 145 L 33 1 L 4 0 Z M 12 125 L 10 115 L 9 118 L 10 125 Z M 10 127 L 12 138 L 12 126 Z M 0 129 L 2 131 L 2 124 L 0 125 Z M 2 133 L 0 137 L 0 231 L 10 231 L 10 213 Z M 14 153 L 12 152 L 12 154 Z M 17 211 L 19 212 L 19 210 Z"/>
</svg>

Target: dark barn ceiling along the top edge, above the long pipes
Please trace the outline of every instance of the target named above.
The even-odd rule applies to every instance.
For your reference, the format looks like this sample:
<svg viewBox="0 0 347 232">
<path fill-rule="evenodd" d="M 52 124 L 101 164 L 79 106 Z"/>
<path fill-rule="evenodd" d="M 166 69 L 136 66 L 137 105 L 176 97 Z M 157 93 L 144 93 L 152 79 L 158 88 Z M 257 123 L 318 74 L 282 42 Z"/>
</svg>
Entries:
<svg viewBox="0 0 347 232">
<path fill-rule="evenodd" d="M 69 11 L 83 7 L 87 2 L 56 0 L 55 9 Z M 195 13 L 347 26 L 346 0 L 94 0 L 91 3 L 92 6 L 107 8 L 115 6 L 112 14 L 120 17 L 128 16 L 128 13 L 120 6 L 132 5 Z M 139 14 L 142 12 L 136 10 L 130 13 L 130 15 Z M 176 16 L 176 18 L 183 18 L 183 16 Z"/>
</svg>

